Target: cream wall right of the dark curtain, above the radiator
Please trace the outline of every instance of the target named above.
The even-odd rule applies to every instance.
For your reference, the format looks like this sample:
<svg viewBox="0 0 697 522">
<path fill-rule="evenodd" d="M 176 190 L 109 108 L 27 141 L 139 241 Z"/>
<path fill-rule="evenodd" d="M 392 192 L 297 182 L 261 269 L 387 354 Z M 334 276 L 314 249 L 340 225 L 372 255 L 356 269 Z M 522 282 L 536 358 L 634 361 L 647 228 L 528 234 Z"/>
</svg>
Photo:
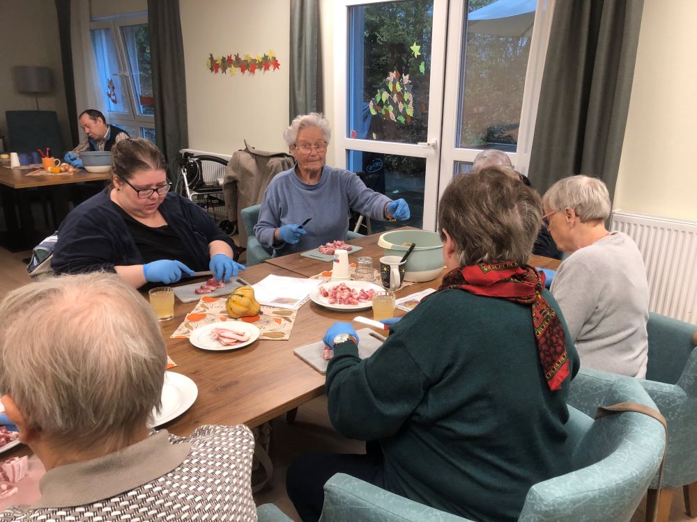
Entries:
<svg viewBox="0 0 697 522">
<path fill-rule="evenodd" d="M 697 219 L 697 1 L 645 0 L 615 208 Z"/>
</svg>

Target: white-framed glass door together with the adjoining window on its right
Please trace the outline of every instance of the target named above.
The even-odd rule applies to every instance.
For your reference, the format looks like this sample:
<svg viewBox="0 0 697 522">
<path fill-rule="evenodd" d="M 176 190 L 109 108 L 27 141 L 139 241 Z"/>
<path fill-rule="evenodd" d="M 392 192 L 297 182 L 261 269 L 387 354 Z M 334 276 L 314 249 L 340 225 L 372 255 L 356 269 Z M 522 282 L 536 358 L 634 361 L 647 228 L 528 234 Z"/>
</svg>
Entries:
<svg viewBox="0 0 697 522">
<path fill-rule="evenodd" d="M 335 157 L 436 229 L 438 198 L 498 148 L 526 173 L 553 0 L 343 0 Z M 405 223 L 373 223 L 374 232 Z"/>
</svg>

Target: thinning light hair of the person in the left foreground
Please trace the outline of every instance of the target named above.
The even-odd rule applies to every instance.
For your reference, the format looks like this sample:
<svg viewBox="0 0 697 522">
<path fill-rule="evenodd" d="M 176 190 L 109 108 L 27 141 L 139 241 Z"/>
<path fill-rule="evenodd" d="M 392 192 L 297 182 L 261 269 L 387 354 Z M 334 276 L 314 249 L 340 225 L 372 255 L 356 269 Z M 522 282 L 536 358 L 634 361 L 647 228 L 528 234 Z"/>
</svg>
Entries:
<svg viewBox="0 0 697 522">
<path fill-rule="evenodd" d="M 160 408 L 165 365 L 153 310 L 116 274 L 50 278 L 0 303 L 0 395 L 52 443 L 127 440 Z"/>
</svg>

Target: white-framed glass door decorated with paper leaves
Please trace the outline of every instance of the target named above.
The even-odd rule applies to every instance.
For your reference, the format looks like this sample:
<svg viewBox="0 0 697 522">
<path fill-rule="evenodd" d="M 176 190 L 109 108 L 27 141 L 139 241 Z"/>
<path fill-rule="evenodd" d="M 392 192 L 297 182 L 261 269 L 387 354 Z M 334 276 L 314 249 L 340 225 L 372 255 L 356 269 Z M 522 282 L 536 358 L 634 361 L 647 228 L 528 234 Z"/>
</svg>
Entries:
<svg viewBox="0 0 697 522">
<path fill-rule="evenodd" d="M 411 219 L 372 231 L 434 228 L 443 103 L 446 0 L 337 2 L 335 157 L 368 187 L 404 198 Z"/>
</svg>

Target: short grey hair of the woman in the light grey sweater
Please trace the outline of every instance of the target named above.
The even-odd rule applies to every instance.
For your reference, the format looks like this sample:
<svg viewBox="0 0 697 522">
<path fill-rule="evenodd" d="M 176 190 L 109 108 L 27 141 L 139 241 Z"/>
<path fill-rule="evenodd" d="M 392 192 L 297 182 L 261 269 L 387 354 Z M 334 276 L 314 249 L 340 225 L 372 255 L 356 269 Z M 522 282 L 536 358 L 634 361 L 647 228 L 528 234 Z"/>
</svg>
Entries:
<svg viewBox="0 0 697 522">
<path fill-rule="evenodd" d="M 611 209 L 610 194 L 604 182 L 581 174 L 565 177 L 549 187 L 542 197 L 542 205 L 557 212 L 573 209 L 581 223 L 605 221 Z"/>
</svg>

